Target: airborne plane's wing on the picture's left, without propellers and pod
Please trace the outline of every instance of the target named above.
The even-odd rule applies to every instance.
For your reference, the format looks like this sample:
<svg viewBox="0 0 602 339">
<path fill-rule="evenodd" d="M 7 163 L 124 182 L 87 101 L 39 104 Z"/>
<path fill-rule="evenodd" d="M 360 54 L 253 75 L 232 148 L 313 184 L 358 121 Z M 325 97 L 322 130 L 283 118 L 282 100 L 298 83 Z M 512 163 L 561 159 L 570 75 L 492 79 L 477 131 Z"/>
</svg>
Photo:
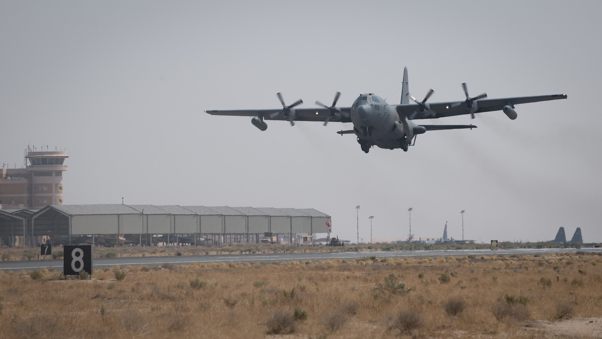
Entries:
<svg viewBox="0 0 602 339">
<path fill-rule="evenodd" d="M 339 107 L 341 109 L 341 120 L 339 122 L 351 122 L 351 107 Z M 270 114 L 278 113 L 282 109 L 240 109 L 240 110 L 206 110 L 211 115 L 231 116 L 263 116 L 264 120 L 286 120 L 282 114 L 270 118 Z M 414 111 L 412 111 L 414 112 Z M 330 111 L 324 107 L 295 108 L 295 121 L 325 121 Z"/>
</svg>

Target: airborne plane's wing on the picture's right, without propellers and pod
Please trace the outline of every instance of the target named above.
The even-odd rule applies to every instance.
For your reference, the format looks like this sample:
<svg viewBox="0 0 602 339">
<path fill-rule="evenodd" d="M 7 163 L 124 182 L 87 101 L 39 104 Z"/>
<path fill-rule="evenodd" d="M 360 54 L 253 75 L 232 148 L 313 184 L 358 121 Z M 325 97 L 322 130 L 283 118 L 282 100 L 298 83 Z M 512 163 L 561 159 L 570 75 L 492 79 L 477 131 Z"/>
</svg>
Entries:
<svg viewBox="0 0 602 339">
<path fill-rule="evenodd" d="M 514 98 L 498 98 L 498 99 L 479 99 L 474 102 L 477 103 L 479 109 L 474 113 L 480 112 L 491 112 L 494 110 L 501 110 L 506 105 L 518 105 L 518 104 L 527 104 L 527 103 L 538 103 L 539 101 L 548 101 L 548 100 L 559 100 L 566 99 L 566 94 L 553 94 L 553 95 L 536 95 L 534 97 L 514 97 Z M 460 104 L 457 107 L 452 108 L 453 104 Z M 455 116 L 455 115 L 464 115 L 470 114 L 468 109 L 466 108 L 464 101 L 448 101 L 447 103 L 429 103 L 430 109 L 436 112 L 434 117 L 427 116 L 423 117 L 421 115 L 416 115 L 414 120 L 416 119 L 436 119 L 436 118 L 444 118 L 445 116 Z M 410 116 L 414 113 L 415 110 L 418 109 L 418 104 L 402 104 L 395 105 L 397 109 L 397 113 L 402 116 Z"/>
</svg>

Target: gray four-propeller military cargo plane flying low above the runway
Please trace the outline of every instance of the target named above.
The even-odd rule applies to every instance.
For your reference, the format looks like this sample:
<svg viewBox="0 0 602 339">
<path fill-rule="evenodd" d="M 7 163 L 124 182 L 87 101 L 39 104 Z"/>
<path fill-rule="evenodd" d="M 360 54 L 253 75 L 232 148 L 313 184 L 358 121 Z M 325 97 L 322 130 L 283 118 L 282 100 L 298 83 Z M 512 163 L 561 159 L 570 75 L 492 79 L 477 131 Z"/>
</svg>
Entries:
<svg viewBox="0 0 602 339">
<path fill-rule="evenodd" d="M 408 68 L 404 68 L 400 104 L 388 104 L 374 93 L 364 93 L 359 95 L 351 107 L 337 107 L 337 101 L 341 95 L 340 92 L 337 92 L 330 106 L 316 101 L 315 104 L 321 107 L 296 108 L 303 103 L 303 100 L 297 100 L 287 106 L 282 94 L 278 93 L 282 109 L 205 110 L 205 113 L 252 116 L 251 123 L 262 131 L 267 129 L 265 120 L 286 120 L 290 122 L 291 126 L 295 121 L 323 121 L 324 125 L 329 121 L 352 122 L 353 130 L 341 130 L 337 133 L 356 135 L 362 151 L 368 153 L 373 146 L 390 150 L 402 148 L 402 150 L 408 151 L 408 147 L 414 145 L 416 136 L 426 131 L 476 128 L 475 125 L 424 125 L 415 123 L 415 120 L 464 114 L 470 114 L 474 119 L 476 113 L 495 110 L 503 111 L 508 118 L 514 120 L 517 118 L 517 112 L 514 110 L 517 104 L 566 99 L 566 94 L 488 99 L 487 94 L 482 93 L 476 97 L 470 97 L 467 84 L 463 83 L 465 100 L 427 103 L 435 91 L 429 90 L 424 99 L 418 101 L 410 95 L 408 88 Z M 413 101 L 412 103 L 410 99 Z"/>
</svg>

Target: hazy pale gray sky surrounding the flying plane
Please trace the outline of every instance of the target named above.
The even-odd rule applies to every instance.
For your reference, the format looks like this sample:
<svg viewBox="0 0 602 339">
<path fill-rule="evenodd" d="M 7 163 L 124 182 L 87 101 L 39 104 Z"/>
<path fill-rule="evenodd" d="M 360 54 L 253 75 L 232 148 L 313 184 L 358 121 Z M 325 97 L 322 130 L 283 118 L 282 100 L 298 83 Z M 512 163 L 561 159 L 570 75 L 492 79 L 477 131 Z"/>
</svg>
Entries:
<svg viewBox="0 0 602 339">
<path fill-rule="evenodd" d="M 334 235 L 602 241 L 600 1 L 0 1 L 0 162 L 66 148 L 66 204 L 315 208 Z M 407 153 L 365 154 L 352 124 L 203 110 L 343 93 L 400 101 L 566 93 L 443 118 Z M 424 121 L 421 121 L 424 122 Z M 13 165 L 11 165 L 13 166 Z"/>
</svg>

